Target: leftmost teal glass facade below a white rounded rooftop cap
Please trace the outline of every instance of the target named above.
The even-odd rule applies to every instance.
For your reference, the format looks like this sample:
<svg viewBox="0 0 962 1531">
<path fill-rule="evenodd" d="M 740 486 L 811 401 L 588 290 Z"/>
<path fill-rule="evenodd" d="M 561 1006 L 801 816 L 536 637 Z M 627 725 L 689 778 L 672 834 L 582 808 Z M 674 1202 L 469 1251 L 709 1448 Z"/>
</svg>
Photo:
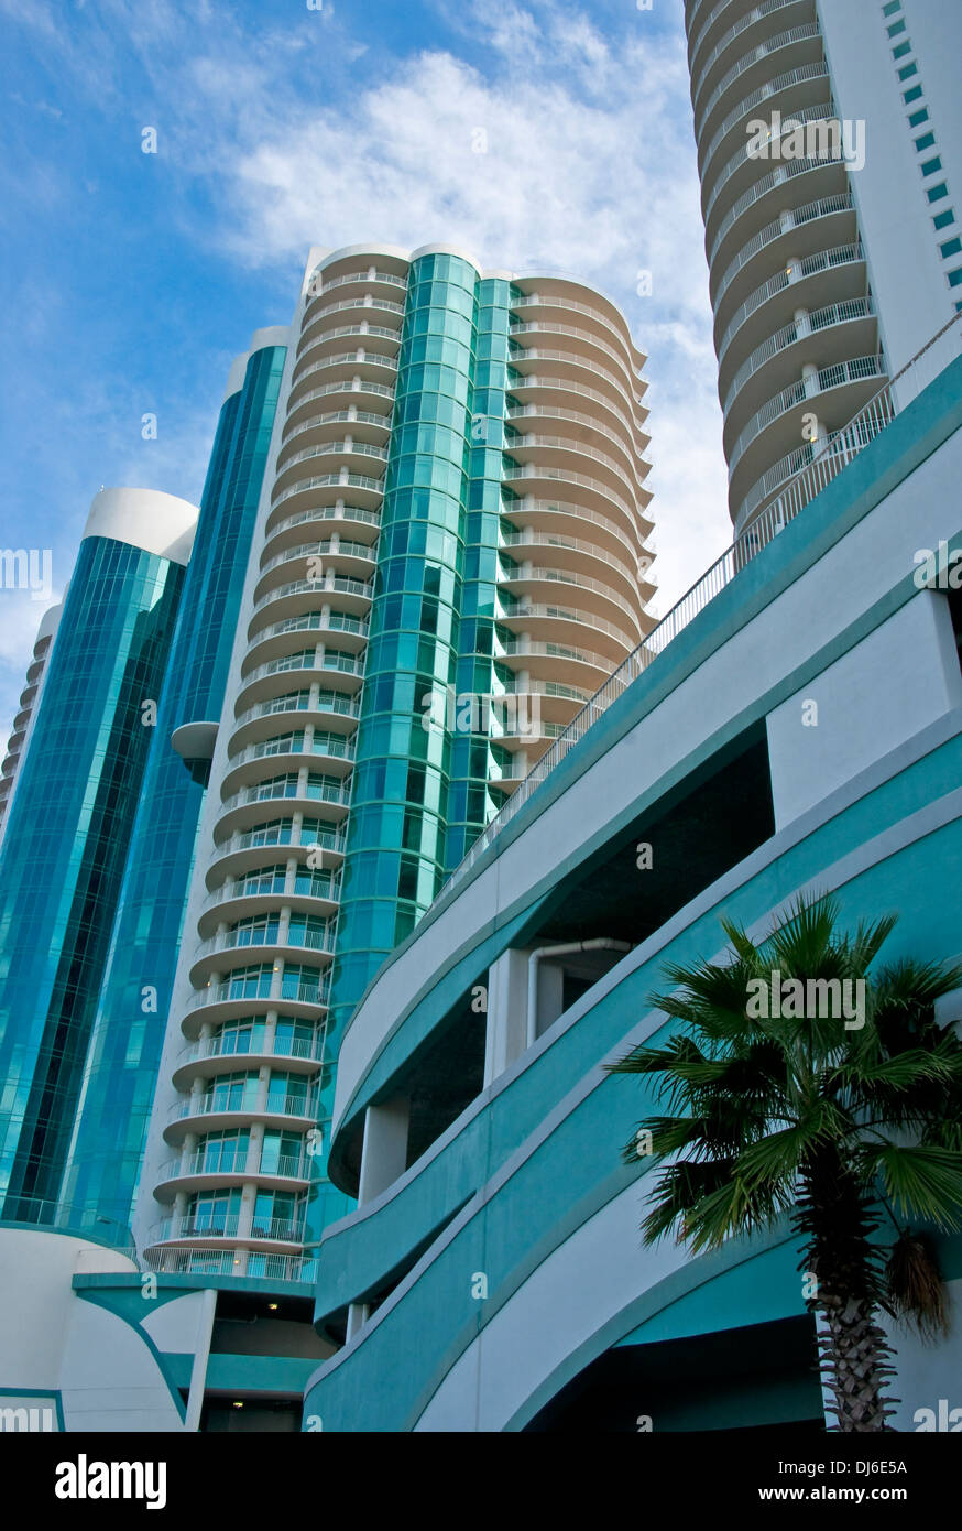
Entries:
<svg viewBox="0 0 962 1531">
<path fill-rule="evenodd" d="M 0 851 L 2 1216 L 57 1217 L 184 568 L 81 542 Z"/>
</svg>

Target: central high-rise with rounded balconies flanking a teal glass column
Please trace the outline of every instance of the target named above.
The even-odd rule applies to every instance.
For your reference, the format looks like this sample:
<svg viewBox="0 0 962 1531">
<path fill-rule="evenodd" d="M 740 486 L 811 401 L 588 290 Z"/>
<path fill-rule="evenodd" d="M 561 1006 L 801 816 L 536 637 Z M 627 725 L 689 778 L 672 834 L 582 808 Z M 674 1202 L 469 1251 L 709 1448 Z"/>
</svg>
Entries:
<svg viewBox="0 0 962 1531">
<path fill-rule="evenodd" d="M 159 1268 L 304 1277 L 346 1206 L 356 1001 L 652 626 L 642 361 L 557 276 L 307 262 L 142 1177 Z"/>
</svg>

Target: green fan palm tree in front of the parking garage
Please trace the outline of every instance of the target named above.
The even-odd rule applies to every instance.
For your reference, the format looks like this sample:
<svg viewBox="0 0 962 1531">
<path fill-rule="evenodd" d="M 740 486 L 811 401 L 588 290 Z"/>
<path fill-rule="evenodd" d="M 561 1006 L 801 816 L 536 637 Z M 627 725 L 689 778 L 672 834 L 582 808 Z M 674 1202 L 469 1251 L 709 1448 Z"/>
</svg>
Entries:
<svg viewBox="0 0 962 1531">
<path fill-rule="evenodd" d="M 655 1076 L 673 1113 L 642 1121 L 624 1151 L 670 1160 L 645 1243 L 673 1229 L 697 1254 L 792 1213 L 843 1431 L 892 1428 L 878 1309 L 922 1332 L 947 1326 L 933 1246 L 908 1220 L 956 1229 L 962 1213 L 962 1043 L 933 1009 L 962 968 L 901 960 L 870 972 L 895 923 L 849 935 L 829 897 L 798 900 L 760 945 L 722 920 L 731 960 L 667 966 L 671 992 L 652 1004 L 678 1027 L 609 1066 Z M 886 1262 L 889 1217 L 899 1237 Z"/>
</svg>

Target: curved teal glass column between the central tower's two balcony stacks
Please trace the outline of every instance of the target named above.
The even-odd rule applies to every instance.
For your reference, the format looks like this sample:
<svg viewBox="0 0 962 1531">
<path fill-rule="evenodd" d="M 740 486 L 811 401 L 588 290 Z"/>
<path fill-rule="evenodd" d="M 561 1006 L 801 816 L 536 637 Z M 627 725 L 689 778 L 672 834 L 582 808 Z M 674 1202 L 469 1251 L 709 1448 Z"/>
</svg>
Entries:
<svg viewBox="0 0 962 1531">
<path fill-rule="evenodd" d="M 479 276 L 411 265 L 347 830 L 332 1029 L 414 928 L 447 862 Z M 506 344 L 506 335 L 505 335 Z"/>
</svg>

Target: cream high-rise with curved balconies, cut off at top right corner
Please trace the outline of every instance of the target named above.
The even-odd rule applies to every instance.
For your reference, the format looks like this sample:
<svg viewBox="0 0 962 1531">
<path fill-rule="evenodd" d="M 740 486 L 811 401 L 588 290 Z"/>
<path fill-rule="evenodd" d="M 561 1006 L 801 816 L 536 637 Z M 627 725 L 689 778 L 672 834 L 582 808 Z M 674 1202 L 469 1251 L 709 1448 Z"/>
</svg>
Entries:
<svg viewBox="0 0 962 1531">
<path fill-rule="evenodd" d="M 742 531 L 962 305 L 962 8 L 685 0 L 685 26 Z"/>
</svg>

